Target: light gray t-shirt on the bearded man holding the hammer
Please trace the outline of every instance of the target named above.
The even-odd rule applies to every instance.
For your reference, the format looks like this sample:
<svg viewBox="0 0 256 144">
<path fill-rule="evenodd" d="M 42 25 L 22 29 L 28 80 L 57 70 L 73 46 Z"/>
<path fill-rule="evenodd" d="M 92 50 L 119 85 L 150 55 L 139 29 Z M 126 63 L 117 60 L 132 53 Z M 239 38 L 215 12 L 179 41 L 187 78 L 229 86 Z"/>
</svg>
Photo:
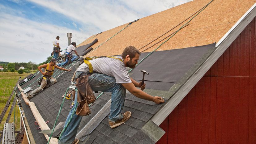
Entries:
<svg viewBox="0 0 256 144">
<path fill-rule="evenodd" d="M 117 57 L 121 60 L 122 57 Z M 118 59 L 101 57 L 90 60 L 93 70 L 116 79 L 116 83 L 131 83 L 130 76 L 124 63 Z M 81 64 L 76 71 L 89 71 L 88 65 Z"/>
</svg>

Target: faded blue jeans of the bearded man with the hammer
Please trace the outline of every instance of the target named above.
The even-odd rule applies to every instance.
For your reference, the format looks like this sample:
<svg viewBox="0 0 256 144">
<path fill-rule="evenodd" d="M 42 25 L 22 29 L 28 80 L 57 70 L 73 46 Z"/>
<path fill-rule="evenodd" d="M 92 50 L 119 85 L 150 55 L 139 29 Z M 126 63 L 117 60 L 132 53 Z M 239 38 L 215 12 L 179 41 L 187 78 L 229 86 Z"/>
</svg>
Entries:
<svg viewBox="0 0 256 144">
<path fill-rule="evenodd" d="M 79 76 L 80 74 L 81 72 L 76 72 L 75 78 L 77 78 L 76 76 Z M 123 87 L 120 83 L 116 83 L 115 78 L 105 74 L 92 74 L 89 76 L 88 82 L 93 91 L 112 92 L 109 121 L 121 120 L 123 118 L 122 110 L 126 95 L 125 87 Z M 75 104 L 76 103 L 77 93 L 75 94 Z M 67 121 L 69 121 L 73 110 L 74 107 L 70 110 L 65 125 Z M 81 119 L 82 116 L 78 116 L 76 114 L 73 115 L 72 120 L 70 121 L 66 130 L 62 134 L 61 139 L 59 140 L 60 144 L 72 143 L 74 141 Z"/>
</svg>

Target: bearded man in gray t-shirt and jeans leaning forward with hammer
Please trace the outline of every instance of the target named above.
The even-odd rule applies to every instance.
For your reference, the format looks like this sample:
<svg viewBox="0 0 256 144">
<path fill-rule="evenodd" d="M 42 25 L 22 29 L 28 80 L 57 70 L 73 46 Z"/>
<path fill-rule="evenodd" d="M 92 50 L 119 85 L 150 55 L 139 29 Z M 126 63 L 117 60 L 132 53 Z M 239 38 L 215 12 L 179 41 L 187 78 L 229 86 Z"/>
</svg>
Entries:
<svg viewBox="0 0 256 144">
<path fill-rule="evenodd" d="M 130 78 L 126 67 L 134 68 L 136 64 L 138 64 L 139 56 L 140 52 L 138 49 L 134 46 L 128 46 L 124 49 L 121 57 L 101 57 L 90 60 L 93 68 L 93 74 L 89 73 L 88 65 L 85 63 L 81 64 L 75 72 L 75 79 L 84 75 L 89 76 L 88 83 L 93 91 L 112 92 L 109 115 L 109 125 L 111 128 L 115 128 L 123 124 L 131 116 L 130 111 L 122 113 L 126 89 L 138 98 L 150 100 L 156 104 L 164 103 L 163 98 L 159 96 L 151 96 L 142 91 L 146 87 L 145 83 L 141 85 L 141 82 L 138 83 Z M 142 90 L 137 89 L 136 87 L 140 87 Z M 74 105 L 76 105 L 76 103 L 77 92 L 75 94 Z M 74 108 L 70 110 L 65 125 L 67 121 L 69 121 L 74 110 Z M 78 139 L 75 139 L 75 135 L 81 120 L 82 116 L 78 116 L 76 114 L 73 115 L 70 124 L 67 126 L 59 140 L 60 144 L 79 141 Z"/>
</svg>

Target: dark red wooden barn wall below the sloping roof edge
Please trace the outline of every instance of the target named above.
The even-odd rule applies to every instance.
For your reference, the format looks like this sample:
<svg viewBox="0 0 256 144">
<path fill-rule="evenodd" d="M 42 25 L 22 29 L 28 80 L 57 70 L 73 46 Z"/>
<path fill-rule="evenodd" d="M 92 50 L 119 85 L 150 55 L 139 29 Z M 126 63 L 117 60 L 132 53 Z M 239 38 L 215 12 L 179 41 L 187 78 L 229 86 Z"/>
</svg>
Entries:
<svg viewBox="0 0 256 144">
<path fill-rule="evenodd" d="M 256 20 L 160 125 L 157 143 L 256 143 Z"/>
</svg>

